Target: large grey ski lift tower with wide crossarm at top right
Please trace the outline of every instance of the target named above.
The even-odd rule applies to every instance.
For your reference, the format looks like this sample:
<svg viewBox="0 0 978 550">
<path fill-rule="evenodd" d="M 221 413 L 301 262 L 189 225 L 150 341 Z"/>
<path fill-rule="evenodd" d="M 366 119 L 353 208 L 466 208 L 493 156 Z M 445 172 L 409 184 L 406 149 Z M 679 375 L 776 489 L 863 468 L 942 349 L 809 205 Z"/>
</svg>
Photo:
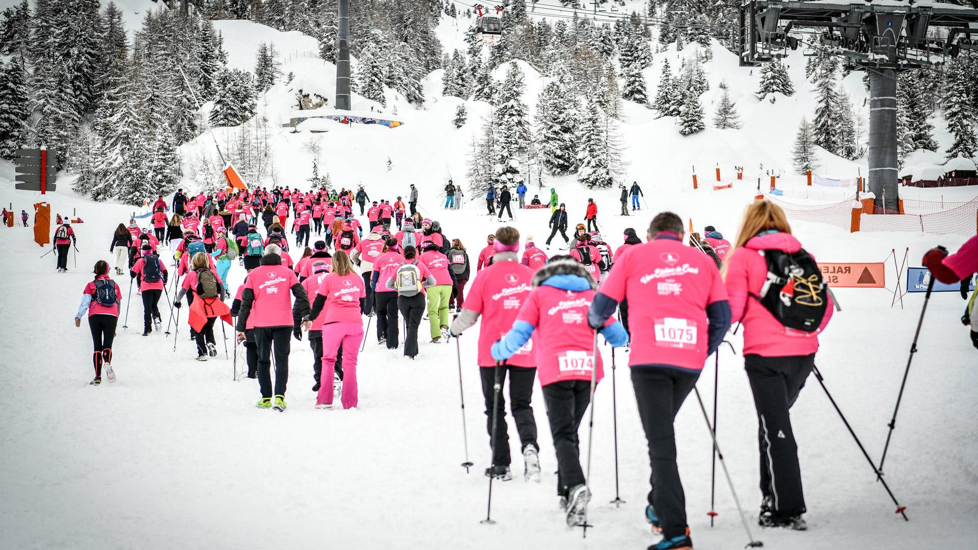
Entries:
<svg viewBox="0 0 978 550">
<path fill-rule="evenodd" d="M 741 67 L 797 49 L 791 33 L 805 28 L 846 68 L 869 71 L 869 191 L 876 206 L 897 210 L 897 73 L 978 57 L 978 9 L 930 0 L 746 0 L 739 26 Z M 943 37 L 928 37 L 932 29 Z"/>
</svg>

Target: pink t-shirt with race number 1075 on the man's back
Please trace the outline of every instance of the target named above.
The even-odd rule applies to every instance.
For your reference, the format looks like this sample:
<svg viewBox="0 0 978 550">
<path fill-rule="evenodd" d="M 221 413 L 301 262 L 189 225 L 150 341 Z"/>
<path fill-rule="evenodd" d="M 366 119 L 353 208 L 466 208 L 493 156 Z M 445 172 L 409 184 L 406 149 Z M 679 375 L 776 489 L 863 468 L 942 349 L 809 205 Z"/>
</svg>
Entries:
<svg viewBox="0 0 978 550">
<path fill-rule="evenodd" d="M 702 370 L 709 344 L 706 306 L 727 299 L 710 256 L 659 237 L 619 257 L 599 292 L 631 305 L 630 365 Z"/>
</svg>

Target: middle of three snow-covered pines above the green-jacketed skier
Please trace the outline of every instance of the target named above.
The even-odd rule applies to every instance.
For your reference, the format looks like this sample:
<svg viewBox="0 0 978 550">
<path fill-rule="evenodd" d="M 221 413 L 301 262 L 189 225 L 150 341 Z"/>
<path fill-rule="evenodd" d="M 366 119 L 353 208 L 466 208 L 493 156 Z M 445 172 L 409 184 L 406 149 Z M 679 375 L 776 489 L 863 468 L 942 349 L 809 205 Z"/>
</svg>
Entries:
<svg viewBox="0 0 978 550">
<path fill-rule="evenodd" d="M 537 152 L 551 175 L 569 174 L 577 164 L 577 105 L 577 98 L 567 93 L 561 79 L 552 80 L 540 91 L 536 113 Z"/>
</svg>

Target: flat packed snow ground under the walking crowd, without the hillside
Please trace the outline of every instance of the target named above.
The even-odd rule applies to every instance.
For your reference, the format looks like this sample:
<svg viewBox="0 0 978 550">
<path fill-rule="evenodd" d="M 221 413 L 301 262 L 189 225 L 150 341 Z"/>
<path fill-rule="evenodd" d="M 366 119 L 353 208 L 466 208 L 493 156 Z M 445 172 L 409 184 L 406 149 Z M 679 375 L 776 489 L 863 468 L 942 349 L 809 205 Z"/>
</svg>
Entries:
<svg viewBox="0 0 978 550">
<path fill-rule="evenodd" d="M 390 196 L 407 189 L 368 187 Z M 422 211 L 442 222 L 450 238 L 467 243 L 470 255 L 499 224 L 480 215 L 484 203 L 441 210 L 422 189 Z M 586 193 L 568 189 L 568 204 Z M 608 241 L 620 243 L 626 226 L 645 227 L 653 211 L 675 209 L 699 228 L 716 225 L 733 237 L 749 190 L 733 196 L 686 193 L 646 197 L 650 209 L 634 217 L 610 215 L 616 203 L 600 200 L 599 219 Z M 4 185 L 0 199 L 20 208 L 34 194 Z M 564 527 L 557 508 L 556 458 L 539 389 L 534 404 L 544 479 L 521 480 L 513 442 L 514 481 L 497 483 L 493 518 L 485 517 L 488 438 L 473 359 L 476 329 L 459 341 L 467 402 L 466 474 L 458 404 L 455 343 L 427 344 L 422 322 L 417 361 L 375 344 L 371 327 L 360 355 L 360 409 L 313 408 L 311 351 L 292 341 L 289 409 L 258 410 L 254 381 L 232 381 L 218 335 L 219 356 L 198 363 L 185 321 L 173 339 L 140 336 L 142 304 L 133 296 L 128 330 L 119 328 L 113 348 L 114 384 L 88 386 L 91 340 L 71 318 L 91 265 L 109 258 L 111 230 L 132 208 L 94 204 L 66 192 L 52 194 L 53 212 L 77 214 L 77 268 L 54 272 L 53 254 L 42 252 L 32 231 L 3 228 L 10 261 L 0 265 L 9 322 L 0 340 L 10 343 L 2 361 L 9 381 L 0 398 L 8 407 L 0 425 L 5 469 L 0 529 L 13 548 L 302 548 L 313 544 L 382 548 L 644 548 L 655 539 L 643 519 L 648 489 L 645 437 L 623 368 L 617 375 L 620 509 L 614 497 L 611 381 L 597 392 L 591 486 L 595 494 L 587 539 Z M 580 209 L 572 219 L 580 217 Z M 546 211 L 517 211 L 513 224 L 537 242 L 546 238 Z M 925 235 L 854 234 L 822 224 L 796 223 L 806 248 L 825 261 L 877 260 L 892 248 L 910 247 L 911 264 L 928 248 L 955 249 L 965 239 Z M 557 241 L 561 241 L 559 236 Z M 556 253 L 553 247 L 550 253 Z M 237 285 L 243 268 L 234 266 Z M 888 286 L 892 288 L 888 273 Z M 123 293 L 128 285 L 121 278 Z M 822 337 L 818 364 L 854 429 L 878 460 L 915 328 L 922 295 L 891 308 L 885 290 L 838 289 L 843 311 Z M 931 298 L 890 454 L 887 481 L 908 506 L 910 523 L 873 474 L 814 377 L 794 407 L 794 428 L 809 513 L 807 532 L 753 527 L 757 489 L 756 417 L 741 359 L 721 357 L 719 438 L 755 537 L 768 548 L 893 548 L 940 544 L 967 547 L 978 536 L 978 459 L 971 420 L 975 350 L 958 322 L 963 301 L 954 293 Z M 162 306 L 163 317 L 168 309 Z M 229 337 L 231 336 L 228 331 Z M 739 349 L 739 338 L 731 338 Z M 228 341 L 232 350 L 232 341 Z M 610 350 L 602 346 L 605 360 Z M 623 367 L 627 354 L 618 352 Z M 710 407 L 713 358 L 699 387 Z M 586 426 L 586 425 L 585 425 Z M 717 480 L 716 526 L 709 527 L 710 439 L 693 396 L 677 419 L 680 470 L 687 491 L 697 548 L 739 548 L 747 542 L 722 478 Z M 511 435 L 515 436 L 511 425 Z M 586 428 L 582 428 L 582 443 Z M 587 444 L 582 444 L 582 456 Z M 719 469 L 718 469 L 719 470 Z M 718 471 L 719 476 L 719 471 Z M 54 528 L 53 528 L 54 527 Z"/>
</svg>

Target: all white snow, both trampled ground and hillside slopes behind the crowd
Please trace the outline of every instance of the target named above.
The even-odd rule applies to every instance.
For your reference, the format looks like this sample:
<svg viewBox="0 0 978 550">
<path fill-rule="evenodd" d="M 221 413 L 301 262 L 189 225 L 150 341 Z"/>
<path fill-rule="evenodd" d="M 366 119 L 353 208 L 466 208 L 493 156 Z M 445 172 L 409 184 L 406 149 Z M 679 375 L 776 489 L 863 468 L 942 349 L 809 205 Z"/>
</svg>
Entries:
<svg viewBox="0 0 978 550">
<path fill-rule="evenodd" d="M 0 5 L 8 3 L 0 1 Z M 138 28 L 142 10 L 156 9 L 156 4 L 145 0 L 119 4 L 130 29 Z M 273 42 L 282 56 L 283 72 L 295 74 L 291 84 L 276 85 L 259 101 L 259 115 L 268 117 L 273 126 L 270 144 L 275 155 L 275 177 L 263 185 L 305 188 L 314 158 L 311 151 L 318 145 L 323 152 L 321 171 L 330 173 L 337 186 L 363 183 L 373 199 L 393 201 L 398 195 L 407 196 L 409 183 L 417 184 L 422 212 L 441 221 L 448 237 L 461 238 L 474 260 L 486 234 L 499 225 L 495 218 L 480 215 L 484 202 L 471 196 L 463 177 L 471 138 L 490 113 L 487 104 L 467 102 L 468 122 L 455 128 L 451 120 L 462 100 L 440 96 L 440 71 L 435 71 L 424 81 L 423 111 L 388 92 L 391 103 L 384 112 L 392 114 L 396 107 L 398 118 L 405 121 L 399 128 L 337 125 L 327 133 L 288 133 L 276 126 L 288 121 L 299 87 L 333 98 L 333 65 L 319 60 L 315 41 L 300 33 L 248 22 L 217 22 L 216 26 L 224 34 L 233 67 L 251 69 L 258 43 Z M 464 45 L 451 22 L 443 20 L 438 35 L 446 49 Z M 758 70 L 737 68 L 732 54 L 719 46 L 713 50 L 714 60 L 705 65 L 711 89 L 701 98 L 704 111 L 712 116 L 718 85 L 726 80 L 744 128 L 708 127 L 684 137 L 673 118 L 653 119 L 652 112 L 625 103 L 621 130 L 628 165 L 623 179 L 638 180 L 643 186 L 646 208 L 640 215 L 614 215 L 617 190 L 589 192 L 572 176 L 546 178 L 538 188 L 534 171 L 531 194 L 539 193 L 546 201 L 555 186 L 572 221 L 580 220 L 587 198 L 594 197 L 602 233 L 614 246 L 620 244 L 625 227 L 642 234 L 651 214 L 662 209 L 691 218 L 696 230 L 715 225 L 733 240 L 742 207 L 753 199 L 757 178 L 763 178 L 762 189 L 766 188 L 765 172 L 772 168 L 783 174 L 778 188 L 792 201 L 842 200 L 844 192 L 806 188 L 801 176 L 788 173 L 798 121 L 802 115 L 810 116 L 815 105 L 812 86 L 803 78 L 802 57 L 795 53 L 787 62 L 798 93 L 778 98 L 772 105 L 753 96 Z M 649 95 L 654 93 L 662 60 L 668 57 L 675 74 L 677 56 L 691 56 L 693 51 L 657 54 L 653 67 L 645 70 Z M 546 80 L 520 65 L 526 73 L 524 100 L 532 114 L 536 94 Z M 498 69 L 496 77 L 504 72 L 505 68 Z M 865 92 L 859 75 L 850 75 L 845 82 L 853 104 L 861 105 Z M 353 98 L 355 109 L 372 106 L 376 107 Z M 946 146 L 939 118 L 935 126 L 935 138 Z M 214 134 L 227 150 L 237 131 L 219 128 Z M 858 168 L 867 173 L 865 164 L 820 153 L 819 173 L 825 177 L 854 177 Z M 184 145 L 181 154 L 184 173 L 193 172 L 200 155 L 215 161 L 217 157 L 208 134 Z M 917 152 L 908 157 L 907 165 L 933 169 L 941 160 L 940 153 Z M 733 177 L 733 165 L 745 166 L 744 180 L 732 191 L 710 191 L 717 164 L 724 180 Z M 691 189 L 692 165 L 703 184 L 696 191 Z M 449 177 L 466 187 L 462 210 L 439 208 L 438 195 Z M 8 183 L 13 179 L 11 164 L 0 162 L 0 203 L 12 204 L 18 213 L 22 208 L 31 212 L 30 205 L 39 198 L 14 191 Z M 486 479 L 481 472 L 488 466 L 489 448 L 474 365 L 477 327 L 459 341 L 468 454 L 475 463 L 469 474 L 459 466 L 464 449 L 455 343 L 427 344 L 424 322 L 417 361 L 403 359 L 400 350 L 374 344 L 371 326 L 359 361 L 357 411 L 313 408 L 311 351 L 305 341 L 293 340 L 289 410 L 277 414 L 253 407 L 258 397 L 254 381 L 233 382 L 232 361 L 224 358 L 223 351 L 206 363 L 194 360 L 185 321 L 180 322 L 176 351 L 172 339 L 139 336 L 142 303 L 133 296 L 130 328 L 120 328 L 113 346 L 119 379 L 100 388 L 88 386 L 91 339 L 85 325 L 73 327 L 72 316 L 81 289 L 91 278 L 92 264 L 109 259 L 111 231 L 128 219 L 133 208 L 91 203 L 73 196 L 67 180 L 62 183 L 48 200 L 53 214 L 77 208 L 77 215 L 85 220 L 74 227 L 80 251 L 77 268 L 69 262 L 67 275 L 56 274 L 53 254 L 37 257 L 46 250 L 33 243 L 32 230 L 0 229 L 8 253 L 8 261 L 0 265 L 4 291 L 0 306 L 8 312 L 8 322 L 0 324 L 0 342 L 9 343 L 0 359 L 0 372 L 9 381 L 0 389 L 0 398 L 10 404 L 0 417 L 0 456 L 5 465 L 0 493 L 8 495 L 0 500 L 5 547 L 606 549 L 645 548 L 654 542 L 643 517 L 648 490 L 645 436 L 625 368 L 616 382 L 621 496 L 627 504 L 620 509 L 607 504 L 614 497 L 614 455 L 611 381 L 605 379 L 596 399 L 591 476 L 595 497 L 590 513 L 595 528 L 589 529 L 587 539 L 581 538 L 580 529 L 564 527 L 557 508 L 556 459 L 539 390 L 534 403 L 544 480 L 538 486 L 520 479 L 518 443 L 513 439 L 516 479 L 494 486 L 492 516 L 498 524 L 479 525 L 485 517 Z M 194 183 L 185 181 L 185 188 L 194 188 Z M 973 189 L 901 192 L 931 200 L 942 195 L 948 200 L 970 200 L 976 193 Z M 548 212 L 515 213 L 513 225 L 542 244 L 548 235 Z M 793 222 L 793 227 L 806 249 L 822 261 L 881 261 L 894 249 L 909 248 L 910 264 L 918 265 L 929 248 L 943 244 L 955 250 L 967 237 L 850 234 L 806 222 Z M 556 239 L 562 242 L 559 236 Z M 556 247 L 549 252 L 556 253 Z M 896 273 L 890 263 L 892 259 L 887 286 L 893 289 Z M 232 286 L 243 276 L 241 267 L 233 267 Z M 125 277 L 119 284 L 125 293 Z M 905 297 L 901 308 L 887 303 L 892 292 L 886 290 L 837 289 L 835 293 L 843 311 L 822 337 L 818 364 L 829 390 L 878 461 L 923 296 Z M 812 378 L 794 407 L 810 529 L 800 533 L 754 527 L 760 500 L 756 417 L 742 359 L 727 350 L 721 353 L 720 445 L 741 503 L 751 515 L 754 535 L 765 547 L 965 548 L 974 544 L 978 539 L 973 520 L 978 512 L 974 443 L 978 428 L 972 419 L 978 412 L 974 393 L 978 360 L 958 322 L 962 308 L 963 301 L 955 293 L 931 298 L 887 457 L 886 479 L 901 504 L 908 506 L 910 523 L 893 513 L 895 506 L 874 481 L 855 442 Z M 168 310 L 163 311 L 168 317 Z M 739 337 L 731 341 L 739 350 Z M 218 348 L 222 347 L 218 336 Z M 233 349 L 230 340 L 228 349 Z M 610 361 L 610 350 L 602 347 L 602 353 Z M 626 358 L 627 354 L 616 353 L 623 367 Z M 707 365 L 699 387 L 709 408 L 712 357 Z M 515 437 L 512 425 L 510 432 Z M 586 428 L 582 441 L 586 441 Z M 742 547 L 747 539 L 719 471 L 716 510 L 720 516 L 716 526 L 709 527 L 711 442 L 693 396 L 677 418 L 677 443 L 696 547 Z M 586 442 L 581 450 L 586 455 Z"/>
</svg>

